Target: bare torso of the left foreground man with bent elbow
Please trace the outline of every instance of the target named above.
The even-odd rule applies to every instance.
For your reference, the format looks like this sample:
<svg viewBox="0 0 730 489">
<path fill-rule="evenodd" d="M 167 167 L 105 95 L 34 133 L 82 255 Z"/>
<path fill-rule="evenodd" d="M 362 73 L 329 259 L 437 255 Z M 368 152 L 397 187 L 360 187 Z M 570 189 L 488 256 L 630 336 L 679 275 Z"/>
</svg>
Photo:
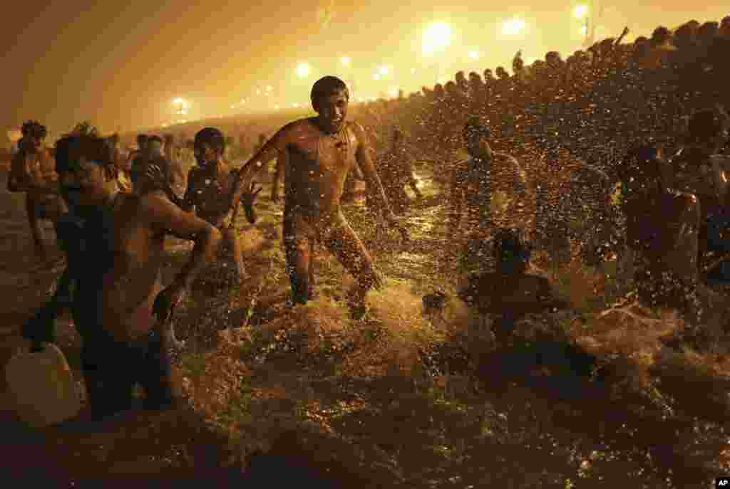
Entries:
<svg viewBox="0 0 730 489">
<path fill-rule="evenodd" d="M 139 197 L 120 194 L 80 228 L 73 313 L 84 336 L 128 341 L 153 327 L 164 234 L 153 232 L 139 212 Z"/>
</svg>

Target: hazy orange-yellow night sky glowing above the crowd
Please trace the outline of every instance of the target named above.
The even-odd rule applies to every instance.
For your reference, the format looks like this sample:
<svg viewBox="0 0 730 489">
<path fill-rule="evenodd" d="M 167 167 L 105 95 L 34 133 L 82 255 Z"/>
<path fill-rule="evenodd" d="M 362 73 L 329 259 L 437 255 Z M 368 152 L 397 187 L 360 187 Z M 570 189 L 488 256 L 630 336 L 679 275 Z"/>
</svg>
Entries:
<svg viewBox="0 0 730 489">
<path fill-rule="evenodd" d="M 355 79 L 356 95 L 394 87 L 415 91 L 433 85 L 437 69 L 453 75 L 508 66 L 518 49 L 527 60 L 548 50 L 568 55 L 580 46 L 580 21 L 572 17 L 580 3 L 525 0 L 499 9 L 476 0 L 456 6 L 429 0 L 15 1 L 0 20 L 0 125 L 32 117 L 52 134 L 80 120 L 105 132 L 128 130 L 169 120 L 177 96 L 191 101 L 191 116 L 230 113 L 228 106 L 242 98 L 250 99 L 250 108 L 264 109 L 307 101 L 316 77 L 331 73 Z M 726 2 L 603 5 L 599 34 L 605 36 L 618 35 L 623 26 L 648 35 L 658 25 L 674 28 L 730 14 Z M 319 21 L 320 8 L 334 12 L 327 26 Z M 526 20 L 526 30 L 503 36 L 502 20 L 515 16 Z M 421 31 L 433 21 L 450 23 L 452 44 L 439 58 L 424 58 Z M 480 52 L 480 59 L 469 59 L 469 50 Z M 352 59 L 350 71 L 339 67 L 342 55 Z M 295 76 L 300 60 L 312 66 L 309 79 Z M 376 82 L 372 74 L 381 65 L 392 69 Z M 272 86 L 269 98 L 256 98 L 255 88 L 266 85 Z"/>
</svg>

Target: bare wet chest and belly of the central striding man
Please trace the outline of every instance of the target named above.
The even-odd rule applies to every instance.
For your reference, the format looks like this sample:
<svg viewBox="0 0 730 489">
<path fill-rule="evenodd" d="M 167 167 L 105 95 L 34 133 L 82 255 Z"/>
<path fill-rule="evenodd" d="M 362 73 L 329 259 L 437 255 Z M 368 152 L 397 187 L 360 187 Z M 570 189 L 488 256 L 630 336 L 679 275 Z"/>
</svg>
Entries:
<svg viewBox="0 0 730 489">
<path fill-rule="evenodd" d="M 339 216 L 347 173 L 355 163 L 357 138 L 349 123 L 339 133 L 324 134 L 311 120 L 301 120 L 286 139 L 285 216 L 315 219 Z"/>
</svg>

